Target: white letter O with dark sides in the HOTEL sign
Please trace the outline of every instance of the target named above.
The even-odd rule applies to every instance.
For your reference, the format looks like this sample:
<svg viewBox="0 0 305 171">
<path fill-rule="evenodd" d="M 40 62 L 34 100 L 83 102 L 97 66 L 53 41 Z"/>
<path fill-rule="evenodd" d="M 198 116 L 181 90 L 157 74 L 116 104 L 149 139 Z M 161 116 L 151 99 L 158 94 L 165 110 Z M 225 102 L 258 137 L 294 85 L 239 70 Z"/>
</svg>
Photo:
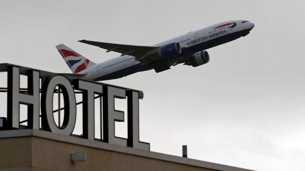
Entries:
<svg viewBox="0 0 305 171">
<path fill-rule="evenodd" d="M 56 86 L 62 90 L 65 111 L 62 127 L 57 127 L 53 117 L 53 93 Z M 55 75 L 45 81 L 41 93 L 41 121 L 43 129 L 58 134 L 71 135 L 76 121 L 76 100 L 70 81 L 63 75 Z"/>
</svg>

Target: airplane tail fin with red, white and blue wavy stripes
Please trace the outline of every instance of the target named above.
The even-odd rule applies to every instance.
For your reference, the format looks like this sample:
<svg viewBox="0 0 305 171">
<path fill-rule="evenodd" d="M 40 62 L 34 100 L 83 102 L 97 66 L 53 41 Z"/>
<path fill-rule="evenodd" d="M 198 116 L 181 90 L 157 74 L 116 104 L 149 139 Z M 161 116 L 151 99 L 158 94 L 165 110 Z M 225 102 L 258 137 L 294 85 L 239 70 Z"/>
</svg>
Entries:
<svg viewBox="0 0 305 171">
<path fill-rule="evenodd" d="M 71 71 L 75 74 L 95 65 L 94 62 L 81 56 L 80 54 L 73 51 L 64 44 L 57 45 L 56 48 L 69 66 L 69 68 L 71 69 Z"/>
</svg>

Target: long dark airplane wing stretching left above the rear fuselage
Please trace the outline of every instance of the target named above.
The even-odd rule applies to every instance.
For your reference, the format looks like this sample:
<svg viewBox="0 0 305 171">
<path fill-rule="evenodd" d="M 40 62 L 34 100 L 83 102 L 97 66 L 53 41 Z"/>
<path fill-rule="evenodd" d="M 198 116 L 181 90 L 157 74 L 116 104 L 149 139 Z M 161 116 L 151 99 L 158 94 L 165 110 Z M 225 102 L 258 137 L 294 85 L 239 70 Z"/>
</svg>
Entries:
<svg viewBox="0 0 305 171">
<path fill-rule="evenodd" d="M 102 49 L 106 49 L 107 50 L 106 52 L 110 52 L 110 51 L 118 52 L 122 54 L 121 56 L 132 55 L 137 57 L 140 54 L 145 54 L 146 52 L 159 48 L 159 46 L 136 46 L 136 45 L 127 45 L 127 44 L 95 42 L 89 40 L 79 40 L 79 42 L 97 46 Z"/>
</svg>

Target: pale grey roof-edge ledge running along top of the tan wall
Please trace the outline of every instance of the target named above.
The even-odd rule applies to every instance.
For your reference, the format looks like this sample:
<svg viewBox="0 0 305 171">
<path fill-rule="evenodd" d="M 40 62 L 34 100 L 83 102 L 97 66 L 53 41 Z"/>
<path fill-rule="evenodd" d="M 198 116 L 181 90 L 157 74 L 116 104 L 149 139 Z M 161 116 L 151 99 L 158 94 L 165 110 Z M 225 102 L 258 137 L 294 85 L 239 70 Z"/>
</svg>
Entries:
<svg viewBox="0 0 305 171">
<path fill-rule="evenodd" d="M 99 148 L 114 152 L 121 152 L 131 155 L 137 155 L 152 159 L 159 159 L 163 161 L 169 161 L 169 162 L 176 162 L 181 164 L 187 164 L 191 166 L 197 166 L 202 168 L 209 168 L 209 169 L 215 169 L 215 170 L 221 170 L 221 171 L 253 171 L 249 169 L 242 169 L 239 167 L 234 166 L 227 166 L 222 165 L 218 163 L 212 163 L 212 162 L 205 162 L 201 160 L 195 160 L 175 155 L 168 155 L 168 154 L 162 154 L 158 152 L 152 152 L 152 151 L 146 151 L 142 149 L 137 148 L 131 148 L 131 147 L 125 147 L 120 145 L 114 145 L 109 144 L 101 141 L 92 141 L 84 138 L 74 137 L 74 136 L 67 136 L 62 134 L 56 134 L 48 131 L 43 130 L 36 130 L 36 129 L 20 129 L 20 130 L 7 130 L 7 131 L 0 131 L 0 138 L 12 138 L 12 137 L 27 137 L 27 136 L 34 136 L 34 137 L 40 137 L 40 138 L 46 138 L 56 141 L 62 141 L 77 145 L 83 145 L 87 147 L 93 147 L 93 148 Z"/>
</svg>

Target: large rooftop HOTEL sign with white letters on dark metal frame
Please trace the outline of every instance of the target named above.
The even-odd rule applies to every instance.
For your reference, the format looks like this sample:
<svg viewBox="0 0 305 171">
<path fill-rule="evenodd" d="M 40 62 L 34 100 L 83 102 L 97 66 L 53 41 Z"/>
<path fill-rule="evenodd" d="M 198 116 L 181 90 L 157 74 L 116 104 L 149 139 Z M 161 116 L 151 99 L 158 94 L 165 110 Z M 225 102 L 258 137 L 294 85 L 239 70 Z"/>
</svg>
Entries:
<svg viewBox="0 0 305 171">
<path fill-rule="evenodd" d="M 7 72 L 8 78 L 7 118 L 0 118 L 0 128 L 2 130 L 21 129 L 19 106 L 24 104 L 27 105 L 27 129 L 44 130 L 70 136 L 76 122 L 77 103 L 75 93 L 79 92 L 82 93 L 83 99 L 83 135 L 81 138 L 96 140 L 94 132 L 94 99 L 99 97 L 103 98 L 101 108 L 103 139 L 101 141 L 143 150 L 150 149 L 149 143 L 139 141 L 139 99 L 143 98 L 142 91 L 81 80 L 72 74 L 56 74 L 11 64 L 0 64 L 0 72 Z M 27 75 L 27 89 L 20 89 L 20 74 Z M 60 89 L 57 92 L 62 93 L 64 97 L 62 126 L 57 126 L 53 117 L 53 94 L 56 92 L 55 88 L 57 86 Z M 114 134 L 115 121 L 124 121 L 124 112 L 114 109 L 114 98 L 125 99 L 126 97 L 128 115 L 127 139 L 115 137 Z"/>
</svg>

